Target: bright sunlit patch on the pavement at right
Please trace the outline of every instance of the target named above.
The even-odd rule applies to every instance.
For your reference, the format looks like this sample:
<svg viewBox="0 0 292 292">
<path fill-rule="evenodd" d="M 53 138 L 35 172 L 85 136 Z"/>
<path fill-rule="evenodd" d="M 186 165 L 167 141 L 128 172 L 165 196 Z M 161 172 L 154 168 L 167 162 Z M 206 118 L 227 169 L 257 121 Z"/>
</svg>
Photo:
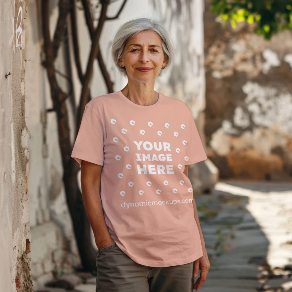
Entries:
<svg viewBox="0 0 292 292">
<path fill-rule="evenodd" d="M 248 183 L 248 187 L 250 186 L 253 189 L 258 188 L 256 182 Z M 246 209 L 255 218 L 270 242 L 267 262 L 271 267 L 291 265 L 292 191 L 261 192 L 227 183 L 217 183 L 215 190 L 248 197 Z"/>
</svg>

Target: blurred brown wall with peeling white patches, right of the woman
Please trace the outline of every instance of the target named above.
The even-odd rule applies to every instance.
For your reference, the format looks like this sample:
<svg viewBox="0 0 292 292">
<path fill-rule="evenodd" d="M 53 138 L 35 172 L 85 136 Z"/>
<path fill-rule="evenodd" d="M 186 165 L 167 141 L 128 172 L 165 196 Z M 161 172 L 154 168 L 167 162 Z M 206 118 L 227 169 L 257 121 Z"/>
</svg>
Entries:
<svg viewBox="0 0 292 292">
<path fill-rule="evenodd" d="M 221 178 L 292 178 L 292 33 L 265 41 L 206 1 L 206 141 Z"/>
</svg>

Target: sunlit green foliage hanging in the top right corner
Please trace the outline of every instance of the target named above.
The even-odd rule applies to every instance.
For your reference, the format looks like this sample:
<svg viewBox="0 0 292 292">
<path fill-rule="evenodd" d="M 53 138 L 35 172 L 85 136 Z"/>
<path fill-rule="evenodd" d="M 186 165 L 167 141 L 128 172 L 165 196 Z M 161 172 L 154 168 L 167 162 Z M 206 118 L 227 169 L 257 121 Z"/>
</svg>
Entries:
<svg viewBox="0 0 292 292">
<path fill-rule="evenodd" d="M 279 30 L 292 28 L 291 0 L 212 0 L 211 13 L 232 28 L 246 21 L 257 24 L 254 32 L 269 40 Z"/>
</svg>

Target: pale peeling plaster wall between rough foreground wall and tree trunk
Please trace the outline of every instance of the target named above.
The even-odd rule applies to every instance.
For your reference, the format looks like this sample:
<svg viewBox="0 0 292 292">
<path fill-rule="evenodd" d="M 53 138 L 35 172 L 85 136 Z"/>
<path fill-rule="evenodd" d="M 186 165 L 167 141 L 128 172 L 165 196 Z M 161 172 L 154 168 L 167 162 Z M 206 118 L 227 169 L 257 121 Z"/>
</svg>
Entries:
<svg viewBox="0 0 292 292">
<path fill-rule="evenodd" d="M 78 250 L 62 183 L 62 163 L 57 120 L 52 107 L 46 70 L 42 62 L 39 1 L 27 0 L 26 46 L 26 124 L 29 142 L 28 193 L 31 224 L 31 274 L 34 290 L 41 289 L 54 274 L 71 272 L 80 264 Z M 58 18 L 57 1 L 51 1 L 51 32 Z M 56 67 L 65 72 L 63 51 Z M 58 80 L 61 86 L 66 81 Z M 64 87 L 64 89 L 66 89 Z M 67 89 L 66 89 L 67 90 Z M 73 127 L 73 125 L 71 125 Z"/>
</svg>

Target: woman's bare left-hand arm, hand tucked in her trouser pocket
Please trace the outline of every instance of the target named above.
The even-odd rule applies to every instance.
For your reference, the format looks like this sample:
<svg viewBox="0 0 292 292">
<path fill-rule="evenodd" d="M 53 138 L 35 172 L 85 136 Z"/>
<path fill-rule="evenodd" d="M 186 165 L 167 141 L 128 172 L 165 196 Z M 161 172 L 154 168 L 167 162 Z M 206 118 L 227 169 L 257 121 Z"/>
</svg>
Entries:
<svg viewBox="0 0 292 292">
<path fill-rule="evenodd" d="M 98 249 L 114 243 L 109 234 L 100 199 L 100 178 L 102 166 L 85 160 L 81 163 L 82 199 L 95 243 Z"/>
</svg>

